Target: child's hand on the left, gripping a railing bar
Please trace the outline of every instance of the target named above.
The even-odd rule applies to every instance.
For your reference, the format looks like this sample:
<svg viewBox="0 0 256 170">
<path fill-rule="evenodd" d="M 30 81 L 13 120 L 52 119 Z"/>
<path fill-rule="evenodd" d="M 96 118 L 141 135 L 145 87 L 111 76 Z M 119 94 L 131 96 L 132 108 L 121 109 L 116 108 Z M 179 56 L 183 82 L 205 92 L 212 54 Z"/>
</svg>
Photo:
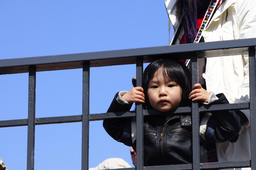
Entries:
<svg viewBox="0 0 256 170">
<path fill-rule="evenodd" d="M 133 87 L 129 92 L 125 93 L 122 98 L 129 103 L 133 102 L 139 102 L 144 103 L 145 102 L 145 95 L 144 90 L 142 87 Z"/>
</svg>

